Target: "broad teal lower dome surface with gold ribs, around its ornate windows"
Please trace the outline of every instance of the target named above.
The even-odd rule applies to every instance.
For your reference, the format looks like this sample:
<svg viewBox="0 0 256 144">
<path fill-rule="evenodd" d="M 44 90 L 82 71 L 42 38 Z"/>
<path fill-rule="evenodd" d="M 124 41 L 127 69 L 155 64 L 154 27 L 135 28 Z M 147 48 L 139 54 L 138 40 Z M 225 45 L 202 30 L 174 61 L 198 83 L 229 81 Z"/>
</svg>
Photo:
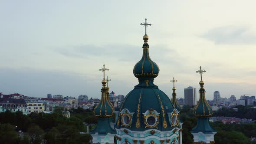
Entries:
<svg viewBox="0 0 256 144">
<path fill-rule="evenodd" d="M 152 82 L 153 80 L 150 81 Z M 163 91 L 156 88 L 157 86 L 155 86 L 156 85 L 153 84 L 144 87 L 143 83 L 141 82 L 139 85 L 135 86 L 135 89 L 126 95 L 125 100 L 121 105 L 120 112 L 127 109 L 129 113 L 133 114 L 131 118 L 131 125 L 129 127 L 122 126 L 122 117 L 119 116 L 119 124 L 117 125 L 118 128 L 128 128 L 132 131 L 145 131 L 147 129 L 152 129 L 145 128 L 147 124 L 145 124 L 145 116 L 143 113 L 154 110 L 159 113 L 159 123 L 156 129 L 160 131 L 170 131 L 173 129 L 167 113 L 172 113 L 174 106 L 172 105 L 168 96 Z"/>
</svg>

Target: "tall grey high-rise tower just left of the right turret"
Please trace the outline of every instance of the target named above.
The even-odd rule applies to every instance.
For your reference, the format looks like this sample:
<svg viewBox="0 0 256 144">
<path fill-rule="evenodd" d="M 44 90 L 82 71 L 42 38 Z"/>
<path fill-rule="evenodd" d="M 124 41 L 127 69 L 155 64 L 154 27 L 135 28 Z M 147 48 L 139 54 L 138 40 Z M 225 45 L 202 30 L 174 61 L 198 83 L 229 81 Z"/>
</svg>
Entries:
<svg viewBox="0 0 256 144">
<path fill-rule="evenodd" d="M 197 88 L 193 88 L 192 86 L 184 88 L 184 98 L 185 105 L 197 105 Z"/>
</svg>

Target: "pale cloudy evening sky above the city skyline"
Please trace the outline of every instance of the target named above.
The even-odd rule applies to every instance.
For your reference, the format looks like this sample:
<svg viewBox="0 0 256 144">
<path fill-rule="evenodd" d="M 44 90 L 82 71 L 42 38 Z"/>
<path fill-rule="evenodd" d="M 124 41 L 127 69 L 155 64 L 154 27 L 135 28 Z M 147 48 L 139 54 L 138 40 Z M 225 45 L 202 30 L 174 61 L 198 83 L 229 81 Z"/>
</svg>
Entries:
<svg viewBox="0 0 256 144">
<path fill-rule="evenodd" d="M 0 0 L 0 92 L 27 96 L 101 97 L 105 64 L 110 91 L 138 84 L 148 19 L 149 52 L 160 74 L 154 84 L 177 98 L 199 88 L 206 98 L 256 95 L 255 0 Z M 197 94 L 197 99 L 199 94 Z"/>
</svg>

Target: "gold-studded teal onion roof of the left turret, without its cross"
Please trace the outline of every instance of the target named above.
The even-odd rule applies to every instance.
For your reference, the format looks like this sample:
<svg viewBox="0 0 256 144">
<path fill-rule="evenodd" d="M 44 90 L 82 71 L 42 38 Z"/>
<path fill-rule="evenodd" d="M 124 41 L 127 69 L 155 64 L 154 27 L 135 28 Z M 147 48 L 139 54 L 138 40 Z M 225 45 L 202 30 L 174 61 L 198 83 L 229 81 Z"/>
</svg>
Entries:
<svg viewBox="0 0 256 144">
<path fill-rule="evenodd" d="M 114 106 L 109 100 L 108 87 L 106 87 L 105 80 L 102 81 L 102 98 L 98 105 L 94 108 L 94 115 L 98 118 L 108 118 L 114 114 Z"/>
</svg>

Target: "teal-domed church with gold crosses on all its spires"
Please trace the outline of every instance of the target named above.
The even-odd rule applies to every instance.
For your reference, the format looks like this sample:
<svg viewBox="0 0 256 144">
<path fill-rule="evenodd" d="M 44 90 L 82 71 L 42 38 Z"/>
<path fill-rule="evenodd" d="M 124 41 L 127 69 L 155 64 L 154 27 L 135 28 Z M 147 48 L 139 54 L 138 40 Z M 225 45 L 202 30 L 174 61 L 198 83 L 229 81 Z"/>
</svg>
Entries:
<svg viewBox="0 0 256 144">
<path fill-rule="evenodd" d="M 108 79 L 103 65 L 102 96 L 93 113 L 98 118 L 97 126 L 92 130 L 92 144 L 182 144 L 182 124 L 179 119 L 181 106 L 176 101 L 174 83 L 171 99 L 158 88 L 154 79 L 159 75 L 158 65 L 151 60 L 147 27 L 151 24 L 145 19 L 142 58 L 135 64 L 133 74 L 138 78 L 134 86 L 116 110 L 109 100 Z M 195 106 L 194 115 L 198 118 L 197 126 L 191 131 L 195 144 L 213 144 L 214 134 L 208 118 L 213 110 L 205 100 L 201 68 L 200 99 Z"/>
</svg>

